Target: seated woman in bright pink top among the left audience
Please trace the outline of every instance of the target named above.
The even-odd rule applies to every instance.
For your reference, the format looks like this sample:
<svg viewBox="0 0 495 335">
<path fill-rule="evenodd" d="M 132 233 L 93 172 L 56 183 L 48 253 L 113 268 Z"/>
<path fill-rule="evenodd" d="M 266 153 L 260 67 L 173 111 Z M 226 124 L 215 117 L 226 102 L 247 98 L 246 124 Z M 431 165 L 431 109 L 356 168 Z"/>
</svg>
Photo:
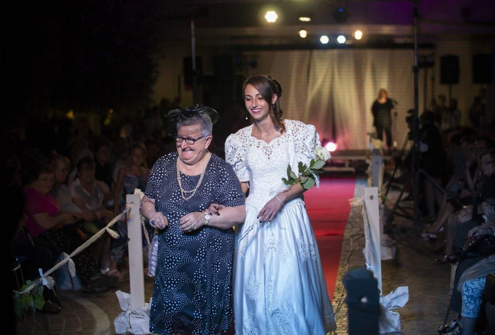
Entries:
<svg viewBox="0 0 495 335">
<path fill-rule="evenodd" d="M 50 194 L 54 182 L 54 169 L 47 163 L 36 164 L 31 183 L 24 188 L 26 226 L 31 236 L 48 241 L 60 251 L 70 254 L 84 241 L 73 225 L 75 217 L 60 211 L 60 205 Z M 45 246 L 46 244 L 44 244 Z M 55 255 L 55 258 L 58 254 Z M 81 283 L 88 292 L 105 290 L 108 281 L 99 276 L 98 266 L 89 248 L 74 256 Z"/>
</svg>

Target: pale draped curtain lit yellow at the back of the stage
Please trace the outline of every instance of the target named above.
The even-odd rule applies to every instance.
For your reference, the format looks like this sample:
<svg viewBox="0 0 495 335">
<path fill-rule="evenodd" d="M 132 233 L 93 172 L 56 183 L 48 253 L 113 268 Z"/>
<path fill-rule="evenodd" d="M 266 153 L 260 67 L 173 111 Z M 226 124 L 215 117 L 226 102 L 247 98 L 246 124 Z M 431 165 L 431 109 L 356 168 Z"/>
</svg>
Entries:
<svg viewBox="0 0 495 335">
<path fill-rule="evenodd" d="M 282 86 L 284 117 L 315 125 L 322 139 L 339 149 L 364 149 L 374 131 L 371 105 L 385 88 L 397 100 L 392 138 L 407 134 L 406 112 L 413 108 L 413 51 L 331 49 L 246 52 L 257 60 L 248 76 L 270 74 Z"/>
</svg>

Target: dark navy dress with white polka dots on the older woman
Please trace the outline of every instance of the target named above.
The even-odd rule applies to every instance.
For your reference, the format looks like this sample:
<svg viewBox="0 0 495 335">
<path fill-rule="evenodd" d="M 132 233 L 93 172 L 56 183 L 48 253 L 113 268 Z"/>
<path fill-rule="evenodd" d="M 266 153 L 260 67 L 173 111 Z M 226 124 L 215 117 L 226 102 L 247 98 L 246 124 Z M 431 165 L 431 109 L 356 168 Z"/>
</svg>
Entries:
<svg viewBox="0 0 495 335">
<path fill-rule="evenodd" d="M 218 334 L 229 328 L 232 319 L 234 232 L 204 226 L 183 233 L 179 219 L 205 210 L 212 202 L 243 205 L 244 193 L 230 165 L 212 155 L 198 191 L 184 200 L 177 183 L 176 160 L 177 153 L 161 157 L 145 191 L 169 223 L 159 235 L 150 332 Z M 180 176 L 184 190 L 193 190 L 200 177 Z"/>
</svg>

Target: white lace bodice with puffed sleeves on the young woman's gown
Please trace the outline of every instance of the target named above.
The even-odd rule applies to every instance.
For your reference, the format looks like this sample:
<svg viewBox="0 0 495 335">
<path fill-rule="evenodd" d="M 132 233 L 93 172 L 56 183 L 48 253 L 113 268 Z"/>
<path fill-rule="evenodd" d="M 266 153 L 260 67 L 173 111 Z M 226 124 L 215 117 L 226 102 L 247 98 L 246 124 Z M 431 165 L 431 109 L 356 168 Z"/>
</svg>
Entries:
<svg viewBox="0 0 495 335">
<path fill-rule="evenodd" d="M 287 165 L 297 173 L 297 163 L 308 165 L 321 143 L 315 127 L 300 121 L 285 120 L 285 133 L 270 143 L 253 137 L 252 128 L 253 125 L 242 128 L 227 138 L 225 160 L 241 182 L 249 181 L 246 204 L 261 209 L 287 188 L 282 182 L 287 177 Z"/>
</svg>

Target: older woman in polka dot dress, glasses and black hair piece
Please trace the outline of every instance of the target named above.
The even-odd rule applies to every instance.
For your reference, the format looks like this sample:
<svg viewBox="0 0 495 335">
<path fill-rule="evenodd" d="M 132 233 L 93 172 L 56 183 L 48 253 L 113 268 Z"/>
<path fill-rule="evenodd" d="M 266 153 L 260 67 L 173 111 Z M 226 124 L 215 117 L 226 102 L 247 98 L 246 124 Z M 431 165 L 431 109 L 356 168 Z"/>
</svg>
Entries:
<svg viewBox="0 0 495 335">
<path fill-rule="evenodd" d="M 160 229 L 150 331 L 219 334 L 232 319 L 232 226 L 245 219 L 244 193 L 233 169 L 208 151 L 215 110 L 196 105 L 167 114 L 177 152 L 151 170 L 142 214 Z M 206 211 L 225 207 L 220 215 Z"/>
</svg>

